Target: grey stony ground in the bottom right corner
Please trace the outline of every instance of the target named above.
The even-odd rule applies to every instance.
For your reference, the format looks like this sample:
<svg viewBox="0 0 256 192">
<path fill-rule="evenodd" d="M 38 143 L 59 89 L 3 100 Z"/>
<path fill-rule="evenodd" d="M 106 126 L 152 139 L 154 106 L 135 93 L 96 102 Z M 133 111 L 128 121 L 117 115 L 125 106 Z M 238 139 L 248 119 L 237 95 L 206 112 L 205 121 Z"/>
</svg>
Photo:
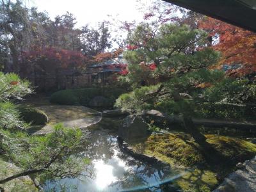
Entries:
<svg viewBox="0 0 256 192">
<path fill-rule="evenodd" d="M 213 192 L 254 192 L 256 191 L 256 157 L 243 163 L 244 168 L 228 175 Z"/>
</svg>

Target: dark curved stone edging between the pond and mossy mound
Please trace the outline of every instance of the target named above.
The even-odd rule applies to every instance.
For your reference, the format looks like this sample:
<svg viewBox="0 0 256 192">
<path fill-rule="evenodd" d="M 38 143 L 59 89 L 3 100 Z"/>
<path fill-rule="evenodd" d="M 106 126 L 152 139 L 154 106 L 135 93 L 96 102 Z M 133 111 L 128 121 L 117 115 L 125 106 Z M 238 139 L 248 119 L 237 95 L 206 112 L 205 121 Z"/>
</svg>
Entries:
<svg viewBox="0 0 256 192">
<path fill-rule="evenodd" d="M 120 136 L 117 137 L 117 142 L 118 142 L 118 147 L 120 148 L 121 152 L 133 157 L 134 159 L 136 159 L 138 161 L 143 161 L 143 162 L 147 162 L 150 164 L 157 164 L 158 166 L 159 165 L 160 166 L 170 166 L 169 163 L 161 161 L 161 160 L 157 159 L 156 157 L 148 156 L 148 155 L 145 155 L 145 154 L 142 154 L 139 152 L 134 152 L 134 150 L 132 150 L 132 148 L 129 147 L 128 143 L 125 143 L 124 140 Z"/>
</svg>

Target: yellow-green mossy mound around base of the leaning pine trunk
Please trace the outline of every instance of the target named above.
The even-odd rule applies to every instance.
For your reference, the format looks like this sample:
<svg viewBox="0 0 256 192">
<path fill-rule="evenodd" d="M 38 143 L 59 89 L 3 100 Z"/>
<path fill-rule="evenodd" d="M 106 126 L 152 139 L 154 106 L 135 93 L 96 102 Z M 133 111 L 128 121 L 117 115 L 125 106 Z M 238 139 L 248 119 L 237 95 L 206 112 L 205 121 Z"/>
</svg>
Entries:
<svg viewBox="0 0 256 192">
<path fill-rule="evenodd" d="M 225 160 L 207 160 L 202 148 L 187 134 L 154 134 L 142 143 L 134 141 L 131 145 L 138 152 L 155 156 L 175 166 L 189 168 L 184 176 L 175 180 L 175 185 L 182 191 L 211 191 L 218 184 L 216 174 L 224 178 L 235 170 L 238 162 L 251 159 L 256 154 L 256 145 L 228 136 L 205 136 Z"/>
</svg>

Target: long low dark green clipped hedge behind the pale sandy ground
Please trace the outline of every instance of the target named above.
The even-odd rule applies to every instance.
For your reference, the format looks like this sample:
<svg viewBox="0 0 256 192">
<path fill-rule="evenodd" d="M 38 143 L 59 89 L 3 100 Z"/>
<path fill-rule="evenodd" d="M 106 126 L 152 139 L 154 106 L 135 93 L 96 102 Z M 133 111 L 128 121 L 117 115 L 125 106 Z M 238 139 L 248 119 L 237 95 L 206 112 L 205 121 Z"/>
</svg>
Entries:
<svg viewBox="0 0 256 192">
<path fill-rule="evenodd" d="M 125 93 L 120 88 L 80 88 L 73 90 L 60 90 L 51 95 L 50 102 L 61 105 L 80 104 L 88 106 L 94 97 L 102 96 L 109 100 L 109 106 L 113 106 L 115 100 Z"/>
</svg>

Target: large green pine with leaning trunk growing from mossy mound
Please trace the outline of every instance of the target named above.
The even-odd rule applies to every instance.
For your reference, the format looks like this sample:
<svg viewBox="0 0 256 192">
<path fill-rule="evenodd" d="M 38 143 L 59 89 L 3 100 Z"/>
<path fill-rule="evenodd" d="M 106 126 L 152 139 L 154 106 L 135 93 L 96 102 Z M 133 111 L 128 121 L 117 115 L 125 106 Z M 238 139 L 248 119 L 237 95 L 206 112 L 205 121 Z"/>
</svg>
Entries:
<svg viewBox="0 0 256 192">
<path fill-rule="evenodd" d="M 131 65 L 129 74 L 120 79 L 134 90 L 121 95 L 116 106 L 138 112 L 172 102 L 186 131 L 198 144 L 209 147 L 191 120 L 200 94 L 197 87 L 223 77 L 208 69 L 218 61 L 219 53 L 205 46 L 207 33 L 179 24 L 164 24 L 154 32 L 150 24 L 141 24 L 128 39 L 125 59 Z"/>
</svg>

